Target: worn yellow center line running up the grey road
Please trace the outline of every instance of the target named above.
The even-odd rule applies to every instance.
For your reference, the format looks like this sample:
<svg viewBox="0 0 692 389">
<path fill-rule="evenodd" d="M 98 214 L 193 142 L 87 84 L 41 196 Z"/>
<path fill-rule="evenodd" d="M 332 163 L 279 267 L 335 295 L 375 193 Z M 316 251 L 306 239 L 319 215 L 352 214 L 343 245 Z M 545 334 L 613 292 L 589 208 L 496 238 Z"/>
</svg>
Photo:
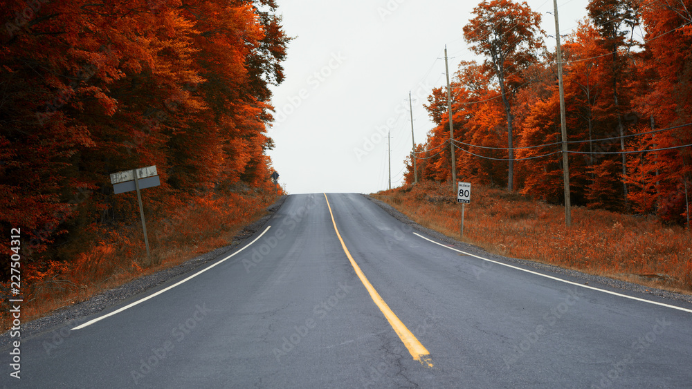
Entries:
<svg viewBox="0 0 692 389">
<path fill-rule="evenodd" d="M 380 296 L 380 294 L 377 293 L 370 281 L 367 281 L 367 278 L 365 278 L 365 274 L 363 274 L 363 270 L 361 270 L 361 267 L 359 267 L 356 261 L 353 259 L 351 253 L 349 253 L 344 243 L 344 240 L 341 238 L 341 234 L 339 234 L 339 229 L 336 228 L 336 221 L 334 221 L 334 213 L 331 212 L 331 205 L 329 205 L 329 198 L 327 198 L 327 193 L 324 194 L 325 200 L 327 200 L 327 207 L 329 207 L 331 222 L 334 223 L 334 231 L 336 231 L 336 236 L 338 236 L 341 242 L 341 247 L 343 247 L 346 256 L 351 261 L 353 269 L 356 271 L 356 274 L 358 274 L 358 278 L 361 278 L 361 282 L 363 283 L 363 285 L 365 285 L 365 289 L 367 289 L 367 292 L 370 293 L 372 301 L 375 302 L 377 307 L 379 307 L 379 309 L 385 315 L 385 318 L 387 318 L 387 321 L 389 321 L 390 325 L 392 325 L 394 331 L 397 332 L 397 335 L 399 335 L 399 338 L 403 342 L 403 345 L 406 345 L 406 348 L 408 349 L 408 352 L 411 353 L 413 359 L 419 361 L 423 366 L 427 365 L 428 368 L 432 368 L 432 359 L 430 359 L 430 352 L 428 352 L 428 350 L 425 348 L 424 345 L 421 344 L 421 342 L 416 338 L 416 336 L 412 332 L 410 332 L 408 328 L 406 328 L 406 325 L 404 325 L 401 322 L 401 320 L 399 320 L 397 315 L 394 314 L 394 312 L 392 312 L 389 305 L 387 305 L 387 303 L 385 303 L 385 301 L 383 300 L 382 296 Z"/>
</svg>

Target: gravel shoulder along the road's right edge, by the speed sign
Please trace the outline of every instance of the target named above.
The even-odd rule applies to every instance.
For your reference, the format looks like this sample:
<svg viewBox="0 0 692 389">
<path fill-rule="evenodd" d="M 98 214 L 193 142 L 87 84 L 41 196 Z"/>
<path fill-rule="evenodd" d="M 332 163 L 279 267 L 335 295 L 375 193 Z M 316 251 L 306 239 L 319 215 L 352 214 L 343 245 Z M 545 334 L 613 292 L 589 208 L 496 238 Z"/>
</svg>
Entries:
<svg viewBox="0 0 692 389">
<path fill-rule="evenodd" d="M 643 294 L 650 294 L 653 296 L 659 296 L 662 298 L 672 300 L 672 301 L 668 301 L 668 303 L 671 303 L 672 305 L 675 304 L 673 301 L 684 301 L 686 303 L 692 303 L 692 296 L 687 295 L 687 294 L 669 292 L 667 290 L 657 289 L 657 288 L 639 285 L 639 284 L 635 284 L 635 283 L 629 283 L 626 281 L 620 281 L 620 280 L 616 280 L 616 279 L 608 278 L 608 277 L 603 277 L 603 276 L 595 276 L 592 274 L 578 272 L 578 271 L 572 270 L 572 269 L 565 269 L 564 267 L 558 267 L 555 265 L 547 265 L 545 263 L 534 262 L 532 260 L 509 258 L 509 257 L 505 257 L 505 256 L 498 256 L 495 254 L 490 254 L 489 252 L 486 252 L 484 249 L 481 249 L 480 247 L 476 247 L 474 245 L 464 243 L 464 242 L 459 242 L 458 240 L 455 240 L 453 238 L 450 238 L 449 236 L 441 234 L 438 231 L 423 227 L 423 226 L 419 225 L 418 223 L 410 220 L 410 218 L 408 218 L 408 216 L 402 214 L 401 212 L 399 212 L 397 209 L 395 209 L 391 205 L 387 204 L 386 202 L 383 202 L 381 200 L 377 200 L 376 198 L 372 198 L 371 196 L 368 196 L 368 195 L 363 195 L 363 196 L 365 196 L 365 198 L 367 198 L 368 200 L 374 202 L 374 204 L 381 207 L 384 211 L 386 211 L 388 214 L 390 214 L 392 217 L 396 218 L 400 222 L 403 222 L 404 224 L 406 224 L 406 225 L 408 225 L 414 229 L 417 229 L 418 231 L 421 231 L 428 236 L 432 236 L 432 238 L 435 238 L 442 243 L 446 243 L 447 245 L 457 247 L 458 249 L 463 250 L 464 252 L 468 252 L 469 254 L 474 254 L 474 255 L 481 256 L 483 258 L 487 258 L 490 260 L 495 260 L 495 261 L 498 261 L 501 263 L 518 265 L 518 267 L 523 267 L 526 269 L 536 269 L 537 272 L 544 273 L 544 274 L 546 274 L 546 273 L 562 274 L 564 276 L 569 276 L 569 277 L 575 279 L 574 282 L 581 282 L 583 284 L 588 284 L 590 286 L 597 286 L 594 284 L 600 284 L 600 285 L 603 285 L 604 289 L 612 290 L 613 292 L 617 292 L 617 290 L 621 290 L 623 292 L 624 291 L 630 291 L 630 292 L 639 292 L 639 293 L 643 293 Z"/>
</svg>

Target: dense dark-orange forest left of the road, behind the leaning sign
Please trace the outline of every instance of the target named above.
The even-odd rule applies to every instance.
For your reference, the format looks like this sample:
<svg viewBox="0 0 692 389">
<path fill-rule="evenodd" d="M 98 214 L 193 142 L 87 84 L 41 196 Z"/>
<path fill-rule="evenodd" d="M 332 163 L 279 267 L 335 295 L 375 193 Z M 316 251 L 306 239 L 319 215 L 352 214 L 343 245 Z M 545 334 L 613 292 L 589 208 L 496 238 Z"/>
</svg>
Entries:
<svg viewBox="0 0 692 389">
<path fill-rule="evenodd" d="M 3 0 L 0 21 L 0 249 L 25 301 L 223 245 L 276 198 L 270 87 L 291 38 L 274 0 Z M 151 165 L 147 260 L 109 174 Z"/>
</svg>

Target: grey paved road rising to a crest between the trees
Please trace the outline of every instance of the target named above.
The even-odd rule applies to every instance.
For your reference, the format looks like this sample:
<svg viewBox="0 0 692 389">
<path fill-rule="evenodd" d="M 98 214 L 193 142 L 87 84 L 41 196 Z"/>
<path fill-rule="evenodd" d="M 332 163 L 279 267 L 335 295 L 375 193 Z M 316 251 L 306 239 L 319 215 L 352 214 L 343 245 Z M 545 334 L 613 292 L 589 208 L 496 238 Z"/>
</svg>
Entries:
<svg viewBox="0 0 692 389">
<path fill-rule="evenodd" d="M 343 245 L 324 194 L 289 196 L 264 235 L 206 272 L 80 329 L 25 339 L 19 386 L 692 385 L 689 304 L 655 305 L 488 262 L 417 235 L 361 195 L 327 198 Z M 428 354 L 412 354 L 416 342 Z M 7 363 L 3 372 L 3 383 L 17 386 Z"/>
</svg>

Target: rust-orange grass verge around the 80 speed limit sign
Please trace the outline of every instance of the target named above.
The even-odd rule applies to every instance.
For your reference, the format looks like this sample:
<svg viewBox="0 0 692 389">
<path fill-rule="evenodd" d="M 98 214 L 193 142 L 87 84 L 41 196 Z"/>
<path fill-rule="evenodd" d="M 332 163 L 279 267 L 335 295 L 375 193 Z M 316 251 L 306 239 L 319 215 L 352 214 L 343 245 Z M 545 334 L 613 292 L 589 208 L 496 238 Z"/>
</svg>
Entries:
<svg viewBox="0 0 692 389">
<path fill-rule="evenodd" d="M 482 247 L 492 254 L 549 263 L 589 274 L 692 294 L 692 238 L 656 218 L 564 208 L 504 189 L 473 185 L 466 205 L 450 196 L 450 183 L 421 182 L 371 196 L 419 225 Z"/>
</svg>

